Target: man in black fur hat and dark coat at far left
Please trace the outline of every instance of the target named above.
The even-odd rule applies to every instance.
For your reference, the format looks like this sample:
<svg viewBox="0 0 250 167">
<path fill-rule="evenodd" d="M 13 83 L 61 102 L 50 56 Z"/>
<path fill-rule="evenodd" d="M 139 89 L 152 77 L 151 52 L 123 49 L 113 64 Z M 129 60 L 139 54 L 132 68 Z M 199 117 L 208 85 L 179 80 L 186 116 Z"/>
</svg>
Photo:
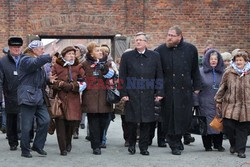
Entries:
<svg viewBox="0 0 250 167">
<path fill-rule="evenodd" d="M 0 60 L 0 92 L 4 93 L 5 110 L 7 114 L 7 137 L 10 150 L 18 146 L 18 117 L 17 104 L 18 73 L 17 67 L 21 56 L 23 40 L 20 37 L 10 37 L 9 52 Z M 1 96 L 2 97 L 2 96 Z M 0 99 L 2 101 L 2 99 Z"/>
</svg>

